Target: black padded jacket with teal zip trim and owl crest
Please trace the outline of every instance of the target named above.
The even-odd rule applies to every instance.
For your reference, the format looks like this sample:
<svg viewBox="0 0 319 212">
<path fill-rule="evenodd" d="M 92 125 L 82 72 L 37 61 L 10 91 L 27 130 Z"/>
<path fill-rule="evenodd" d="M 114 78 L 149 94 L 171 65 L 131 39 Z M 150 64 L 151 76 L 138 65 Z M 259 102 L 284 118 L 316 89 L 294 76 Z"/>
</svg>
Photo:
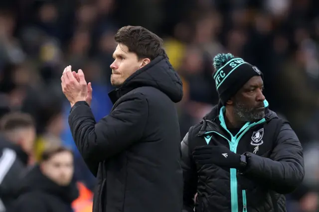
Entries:
<svg viewBox="0 0 319 212">
<path fill-rule="evenodd" d="M 287 121 L 266 108 L 264 119 L 247 123 L 233 137 L 222 127 L 223 110 L 214 107 L 181 142 L 183 212 L 286 212 L 284 194 L 301 184 L 305 172 L 297 135 Z M 207 145 L 205 137 L 217 141 L 208 145 L 219 143 L 238 154 L 245 153 L 245 172 L 196 164 L 192 152 L 197 146 Z"/>
</svg>

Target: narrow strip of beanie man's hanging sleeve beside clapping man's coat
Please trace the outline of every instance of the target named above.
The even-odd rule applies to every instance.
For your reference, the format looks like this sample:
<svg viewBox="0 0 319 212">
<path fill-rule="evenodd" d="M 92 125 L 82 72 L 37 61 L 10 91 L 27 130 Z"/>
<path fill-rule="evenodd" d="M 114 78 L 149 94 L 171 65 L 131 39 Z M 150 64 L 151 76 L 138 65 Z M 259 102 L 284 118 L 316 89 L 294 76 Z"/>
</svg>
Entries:
<svg viewBox="0 0 319 212">
<path fill-rule="evenodd" d="M 181 167 L 183 169 L 183 212 L 194 211 L 194 196 L 197 191 L 197 171 L 188 147 L 188 133 L 181 142 Z"/>
</svg>

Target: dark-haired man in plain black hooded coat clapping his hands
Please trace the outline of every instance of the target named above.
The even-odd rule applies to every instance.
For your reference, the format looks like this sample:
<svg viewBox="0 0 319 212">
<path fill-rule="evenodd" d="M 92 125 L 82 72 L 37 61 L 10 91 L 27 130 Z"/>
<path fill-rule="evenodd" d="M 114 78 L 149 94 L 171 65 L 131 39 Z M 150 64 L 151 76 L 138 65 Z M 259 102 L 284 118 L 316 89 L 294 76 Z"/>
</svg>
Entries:
<svg viewBox="0 0 319 212">
<path fill-rule="evenodd" d="M 182 83 L 162 40 L 140 26 L 125 26 L 111 64 L 111 113 L 96 122 L 92 88 L 82 70 L 68 66 L 62 90 L 71 103 L 69 124 L 78 150 L 97 177 L 93 212 L 180 212 L 182 170 L 174 103 Z"/>
</svg>

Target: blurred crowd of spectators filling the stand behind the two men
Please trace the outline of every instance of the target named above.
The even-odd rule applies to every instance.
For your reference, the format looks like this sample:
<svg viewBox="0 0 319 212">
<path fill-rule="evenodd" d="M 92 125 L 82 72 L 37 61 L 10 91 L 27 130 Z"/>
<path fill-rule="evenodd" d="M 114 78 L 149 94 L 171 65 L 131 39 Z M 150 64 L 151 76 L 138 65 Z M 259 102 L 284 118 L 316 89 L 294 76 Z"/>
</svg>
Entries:
<svg viewBox="0 0 319 212">
<path fill-rule="evenodd" d="M 67 65 L 81 68 L 92 82 L 96 119 L 107 115 L 113 37 L 124 25 L 141 25 L 163 38 L 183 80 L 181 137 L 218 102 L 213 56 L 231 52 L 256 65 L 270 108 L 290 121 L 304 147 L 306 177 L 287 196 L 288 212 L 319 211 L 317 0 L 1 0 L 0 116 L 20 111 L 34 120 L 26 166 L 43 163 L 52 146 L 72 150 L 73 180 L 81 182 L 73 208 L 90 208 L 95 179 L 73 143 L 60 77 Z"/>
</svg>

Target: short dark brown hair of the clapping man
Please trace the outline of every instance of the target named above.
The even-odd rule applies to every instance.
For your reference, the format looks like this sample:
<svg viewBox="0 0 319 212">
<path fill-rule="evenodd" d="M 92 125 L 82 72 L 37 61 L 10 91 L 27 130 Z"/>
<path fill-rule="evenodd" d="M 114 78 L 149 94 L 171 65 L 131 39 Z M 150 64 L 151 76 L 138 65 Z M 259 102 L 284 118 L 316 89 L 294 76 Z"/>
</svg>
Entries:
<svg viewBox="0 0 319 212">
<path fill-rule="evenodd" d="M 162 47 L 163 40 L 142 26 L 123 26 L 114 36 L 117 43 L 126 45 L 129 52 L 136 53 L 139 59 L 155 59 L 158 56 L 167 57 Z"/>
</svg>

